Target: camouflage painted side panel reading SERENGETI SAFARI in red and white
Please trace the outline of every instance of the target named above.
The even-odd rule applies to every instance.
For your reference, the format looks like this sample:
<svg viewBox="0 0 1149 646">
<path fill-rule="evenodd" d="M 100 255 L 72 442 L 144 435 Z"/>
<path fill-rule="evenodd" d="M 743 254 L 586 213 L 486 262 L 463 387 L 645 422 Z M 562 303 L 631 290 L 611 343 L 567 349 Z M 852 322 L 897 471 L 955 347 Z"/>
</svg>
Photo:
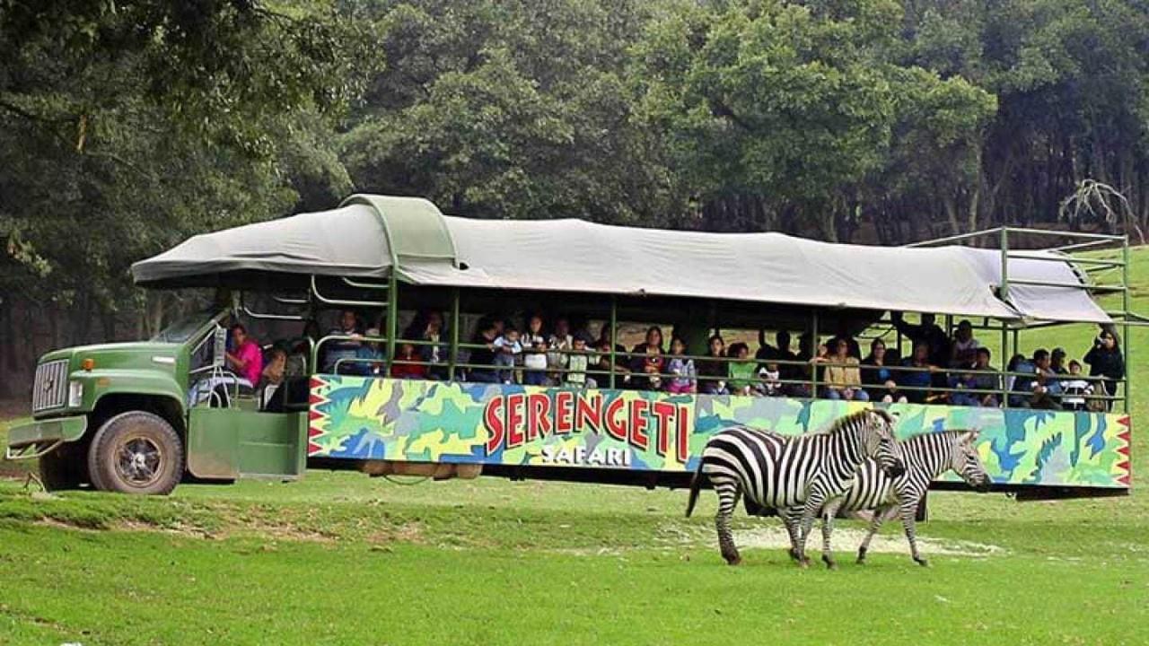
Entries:
<svg viewBox="0 0 1149 646">
<path fill-rule="evenodd" d="M 593 466 L 681 471 L 735 424 L 812 432 L 870 405 L 830 400 L 571 391 L 324 376 L 311 385 L 309 456 Z M 893 405 L 901 438 L 980 429 L 998 483 L 1127 487 L 1123 415 Z"/>
</svg>

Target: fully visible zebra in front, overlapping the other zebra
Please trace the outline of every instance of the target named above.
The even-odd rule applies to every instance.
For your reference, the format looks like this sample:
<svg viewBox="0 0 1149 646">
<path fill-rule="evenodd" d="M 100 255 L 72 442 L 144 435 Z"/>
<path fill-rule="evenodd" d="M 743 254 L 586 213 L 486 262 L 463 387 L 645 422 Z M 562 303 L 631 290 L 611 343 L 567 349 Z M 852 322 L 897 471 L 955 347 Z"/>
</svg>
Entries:
<svg viewBox="0 0 1149 646">
<path fill-rule="evenodd" d="M 694 512 L 705 477 L 718 494 L 718 547 L 726 562 L 737 566 L 742 559 L 730 520 L 741 495 L 759 508 L 801 509 L 791 539 L 799 563 L 805 567 L 805 539 L 815 516 L 827 500 L 849 487 L 863 462 L 874 457 L 893 477 L 904 471 L 893 421 L 885 410 L 866 409 L 836 420 L 823 433 L 808 436 L 785 437 L 745 426 L 719 431 L 702 451 L 686 515 Z"/>
</svg>

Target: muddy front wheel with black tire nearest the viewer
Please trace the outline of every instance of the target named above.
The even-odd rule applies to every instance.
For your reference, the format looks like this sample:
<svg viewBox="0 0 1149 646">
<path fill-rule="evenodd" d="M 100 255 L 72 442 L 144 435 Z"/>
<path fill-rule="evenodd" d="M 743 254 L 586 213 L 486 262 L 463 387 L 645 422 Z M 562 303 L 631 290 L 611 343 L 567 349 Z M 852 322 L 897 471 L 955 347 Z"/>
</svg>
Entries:
<svg viewBox="0 0 1149 646">
<path fill-rule="evenodd" d="M 100 491 L 167 495 L 184 476 L 184 444 L 159 415 L 121 413 L 92 438 L 87 471 Z"/>
</svg>

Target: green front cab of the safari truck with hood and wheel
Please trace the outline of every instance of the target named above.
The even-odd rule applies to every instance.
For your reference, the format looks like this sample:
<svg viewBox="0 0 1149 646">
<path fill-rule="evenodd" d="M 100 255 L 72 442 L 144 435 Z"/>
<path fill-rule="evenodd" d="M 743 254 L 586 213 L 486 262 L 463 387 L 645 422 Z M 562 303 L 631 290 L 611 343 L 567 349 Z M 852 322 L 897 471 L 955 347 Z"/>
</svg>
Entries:
<svg viewBox="0 0 1149 646">
<path fill-rule="evenodd" d="M 225 367 L 224 323 L 201 313 L 148 341 L 45 354 L 32 385 L 32 421 L 9 431 L 8 460 L 39 459 L 46 489 L 169 493 L 188 475 L 302 472 L 301 413 L 261 413 Z"/>
</svg>

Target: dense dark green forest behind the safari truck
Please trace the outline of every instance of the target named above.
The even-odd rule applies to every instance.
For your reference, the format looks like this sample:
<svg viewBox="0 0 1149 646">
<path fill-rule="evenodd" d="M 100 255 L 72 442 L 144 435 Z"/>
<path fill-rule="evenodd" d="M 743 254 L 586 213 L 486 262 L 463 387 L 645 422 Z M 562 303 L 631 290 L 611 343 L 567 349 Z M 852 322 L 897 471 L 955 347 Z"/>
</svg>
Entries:
<svg viewBox="0 0 1149 646">
<path fill-rule="evenodd" d="M 131 262 L 354 191 L 838 241 L 1139 234 L 1147 125 L 1144 0 L 0 0 L 0 394 L 164 320 Z M 1059 208 L 1090 182 L 1120 197 Z"/>
</svg>

